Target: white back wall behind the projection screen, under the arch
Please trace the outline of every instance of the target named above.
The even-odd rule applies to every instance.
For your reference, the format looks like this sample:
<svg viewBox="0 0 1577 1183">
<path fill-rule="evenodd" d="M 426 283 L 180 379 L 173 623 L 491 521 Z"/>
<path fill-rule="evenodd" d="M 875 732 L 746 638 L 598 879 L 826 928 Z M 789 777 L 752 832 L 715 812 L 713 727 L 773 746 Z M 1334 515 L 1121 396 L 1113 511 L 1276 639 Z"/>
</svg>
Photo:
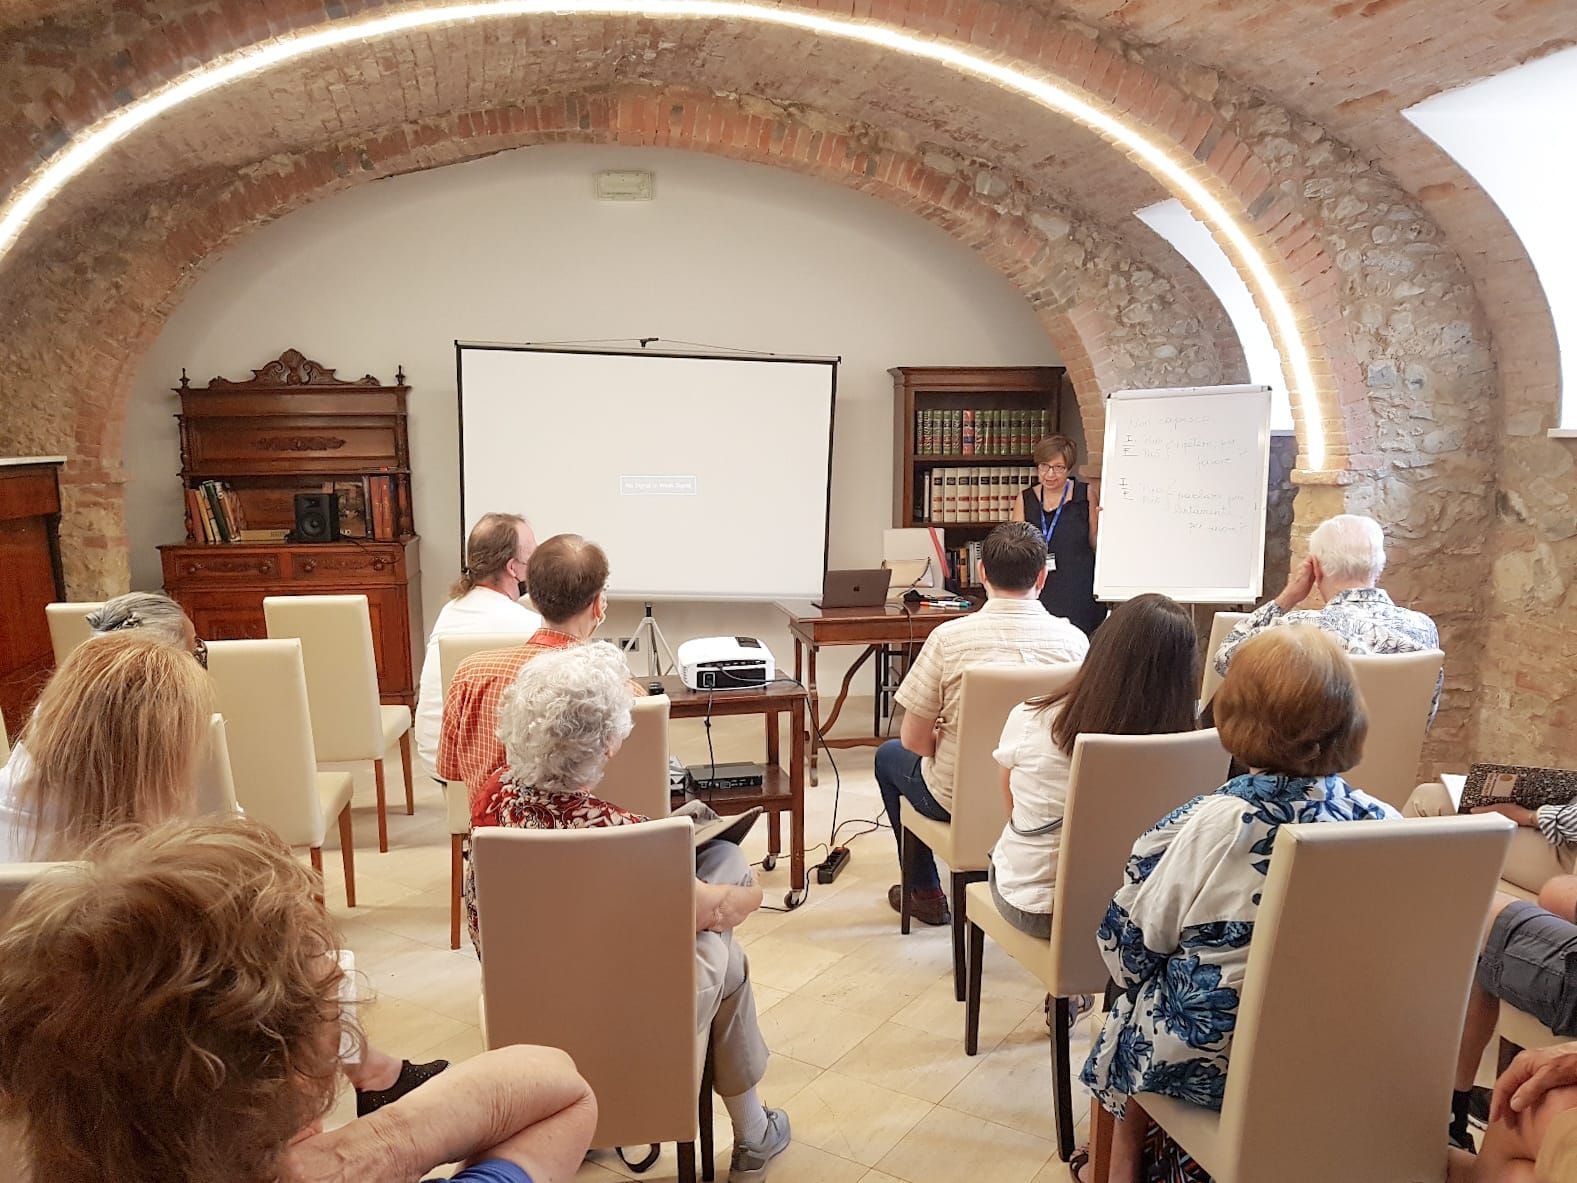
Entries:
<svg viewBox="0 0 1577 1183">
<path fill-rule="evenodd" d="M 656 172 L 654 202 L 595 200 L 596 170 L 631 167 Z M 404 364 L 431 625 L 460 547 L 454 339 L 637 336 L 842 355 L 833 566 L 875 565 L 891 525 L 889 366 L 1058 363 L 1030 306 L 968 248 L 874 197 L 779 169 L 555 145 L 399 177 L 249 235 L 170 317 L 137 374 L 126 426 L 134 584 L 156 587 L 158 544 L 183 536 L 169 390 L 183 366 L 194 383 L 243 379 L 287 347 L 341 377 L 393 382 Z M 536 442 L 525 424 L 520 464 L 538 446 L 595 448 L 607 431 L 617 424 L 588 416 L 579 438 Z M 770 530 L 773 442 L 740 448 L 760 472 L 759 521 Z M 620 606 L 607 629 L 628 633 L 636 618 L 639 606 Z M 762 606 L 675 604 L 659 615 L 673 645 L 747 633 L 788 661 L 779 620 Z"/>
</svg>

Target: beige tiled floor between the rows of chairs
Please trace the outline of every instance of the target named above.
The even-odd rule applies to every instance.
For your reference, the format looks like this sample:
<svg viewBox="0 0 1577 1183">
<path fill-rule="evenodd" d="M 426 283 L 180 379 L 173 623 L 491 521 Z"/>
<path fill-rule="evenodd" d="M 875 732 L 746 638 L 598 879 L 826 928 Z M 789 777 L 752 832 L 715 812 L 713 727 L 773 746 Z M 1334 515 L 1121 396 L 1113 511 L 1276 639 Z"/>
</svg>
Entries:
<svg viewBox="0 0 1577 1183">
<path fill-rule="evenodd" d="M 856 715 L 858 716 L 858 715 Z M 864 716 L 869 718 L 869 716 Z M 724 719 L 719 759 L 760 759 L 759 724 Z M 705 759 L 699 726 L 675 724 L 680 759 Z M 837 752 L 839 820 L 877 817 L 872 749 Z M 826 838 L 833 776 L 807 790 L 807 834 Z M 396 793 L 390 795 L 397 800 Z M 858 828 L 858 827 L 856 827 Z M 765 853 L 765 825 L 746 850 Z M 344 909 L 337 856 L 328 899 L 345 943 L 375 992 L 363 1022 L 380 1047 L 415 1060 L 481 1051 L 478 965 L 467 945 L 448 948 L 449 841 L 438 792 L 418 787 L 416 815 L 390 815 L 390 852 L 378 855 L 371 797 L 356 800 L 360 907 Z M 844 831 L 847 838 L 848 830 Z M 886 888 L 897 879 L 891 834 L 853 844 L 853 861 L 831 886 L 812 883 L 792 913 L 759 912 L 741 929 L 762 1028 L 773 1062 L 762 1095 L 793 1121 L 793 1145 L 773 1183 L 1063 1183 L 1057 1159 L 1044 991 L 987 943 L 981 1054 L 964 1054 L 964 1005 L 953 1000 L 949 935 L 916 926 L 899 935 Z M 763 875 L 766 902 L 782 904 L 787 860 Z M 1076 1032 L 1074 1068 L 1088 1051 L 1088 1021 Z M 1077 1084 L 1076 1084 L 1077 1088 Z M 349 1095 L 331 1123 L 350 1117 Z M 1088 1096 L 1074 1103 L 1079 1136 Z M 729 1120 L 718 1106 L 719 1181 L 727 1177 Z M 673 1150 L 645 1180 L 677 1177 Z M 579 1180 L 636 1178 L 612 1151 L 596 1151 Z"/>
</svg>

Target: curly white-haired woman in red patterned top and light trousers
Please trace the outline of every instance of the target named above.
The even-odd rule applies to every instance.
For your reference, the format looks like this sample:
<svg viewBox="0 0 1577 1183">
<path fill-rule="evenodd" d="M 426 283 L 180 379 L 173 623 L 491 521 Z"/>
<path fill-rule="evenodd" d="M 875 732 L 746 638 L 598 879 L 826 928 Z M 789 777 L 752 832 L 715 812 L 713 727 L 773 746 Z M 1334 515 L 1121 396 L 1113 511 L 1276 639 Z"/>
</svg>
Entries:
<svg viewBox="0 0 1577 1183">
<path fill-rule="evenodd" d="M 498 707 L 508 763 L 483 787 L 475 825 L 583 830 L 648 820 L 593 795 L 609 757 L 629 735 L 632 703 L 629 667 L 606 642 L 531 658 Z M 749 961 L 733 940 L 733 929 L 760 907 L 762 888 L 732 842 L 703 845 L 695 872 L 699 1035 L 711 1033 L 714 1087 L 733 1121 L 729 1181 L 757 1183 L 788 1145 L 788 1115 L 766 1109 L 757 1093 L 768 1052 L 755 1022 Z M 468 864 L 465 910 L 481 956 Z"/>
</svg>

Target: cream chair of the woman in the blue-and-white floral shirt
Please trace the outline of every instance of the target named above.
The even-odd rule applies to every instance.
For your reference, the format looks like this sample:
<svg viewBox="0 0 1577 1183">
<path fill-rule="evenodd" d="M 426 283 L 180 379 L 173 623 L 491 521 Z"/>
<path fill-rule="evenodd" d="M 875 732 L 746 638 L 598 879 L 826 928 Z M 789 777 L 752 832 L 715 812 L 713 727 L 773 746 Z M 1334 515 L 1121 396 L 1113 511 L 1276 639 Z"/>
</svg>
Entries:
<svg viewBox="0 0 1577 1183">
<path fill-rule="evenodd" d="M 1495 815 L 1284 825 L 1221 1112 L 1139 1103 L 1216 1183 L 1445 1178 L 1473 918 L 1511 828 Z"/>
</svg>

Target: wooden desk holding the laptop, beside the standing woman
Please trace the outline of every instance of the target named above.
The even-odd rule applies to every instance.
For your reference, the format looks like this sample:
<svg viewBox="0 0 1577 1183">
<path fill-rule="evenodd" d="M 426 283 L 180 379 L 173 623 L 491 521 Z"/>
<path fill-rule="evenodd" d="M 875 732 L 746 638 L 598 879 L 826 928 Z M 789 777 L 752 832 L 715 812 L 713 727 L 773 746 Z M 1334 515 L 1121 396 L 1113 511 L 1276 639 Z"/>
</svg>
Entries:
<svg viewBox="0 0 1577 1183">
<path fill-rule="evenodd" d="M 788 634 L 793 637 L 793 675 L 803 680 L 811 694 L 811 727 L 815 740 L 811 743 L 811 784 L 817 782 L 817 748 L 874 748 L 882 743 L 882 735 L 853 735 L 828 740 L 826 732 L 837 722 L 837 715 L 844 710 L 848 697 L 848 685 L 855 680 L 859 667 L 871 659 L 871 655 L 882 645 L 904 645 L 910 661 L 926 642 L 937 625 L 948 620 L 967 617 L 971 607 L 929 607 L 919 604 L 885 604 L 882 607 L 828 607 L 820 609 L 809 599 L 779 601 L 779 609 L 788 617 Z M 833 700 L 833 711 L 822 718 L 822 697 L 815 685 L 815 655 L 823 645 L 864 645 L 844 685 L 837 688 Z"/>
</svg>

